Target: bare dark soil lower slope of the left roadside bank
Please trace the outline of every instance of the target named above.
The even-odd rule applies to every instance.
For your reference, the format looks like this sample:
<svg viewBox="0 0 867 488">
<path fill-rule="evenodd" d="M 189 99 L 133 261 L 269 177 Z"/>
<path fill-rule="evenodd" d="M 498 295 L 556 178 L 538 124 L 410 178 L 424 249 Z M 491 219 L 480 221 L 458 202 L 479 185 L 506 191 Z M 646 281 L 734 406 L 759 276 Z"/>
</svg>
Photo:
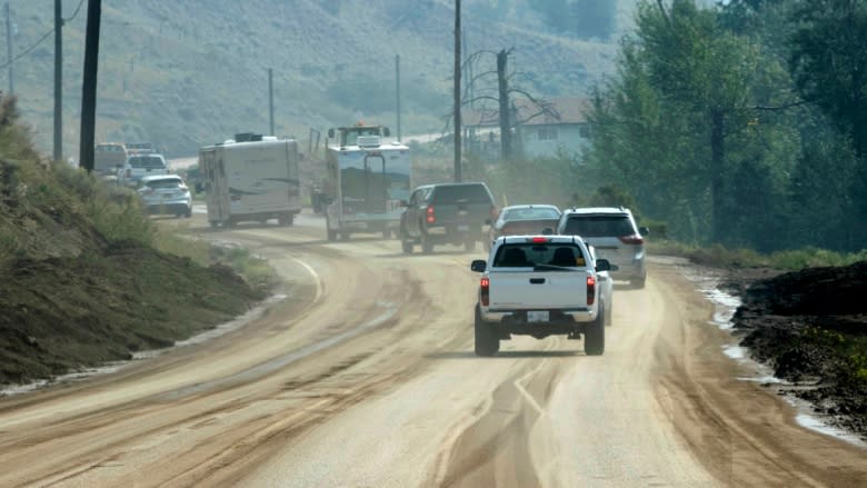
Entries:
<svg viewBox="0 0 867 488">
<path fill-rule="evenodd" d="M 0 280 L 0 384 L 129 359 L 262 299 L 231 269 L 131 242 L 79 258 L 20 259 Z"/>
</svg>

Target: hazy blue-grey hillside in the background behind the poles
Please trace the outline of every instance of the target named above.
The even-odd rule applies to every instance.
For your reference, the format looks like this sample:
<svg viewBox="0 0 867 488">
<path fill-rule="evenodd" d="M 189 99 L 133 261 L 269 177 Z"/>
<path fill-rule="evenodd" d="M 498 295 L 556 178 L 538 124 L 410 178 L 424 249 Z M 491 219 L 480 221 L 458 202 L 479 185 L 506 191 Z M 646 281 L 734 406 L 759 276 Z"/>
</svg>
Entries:
<svg viewBox="0 0 867 488">
<path fill-rule="evenodd" d="M 53 26 L 44 2 L 11 0 L 13 51 Z M 439 131 L 449 113 L 454 2 L 449 0 L 113 0 L 102 2 L 98 140 L 149 140 L 169 156 L 239 131 L 268 130 L 273 70 L 278 135 L 367 120 L 393 126 L 400 56 L 402 131 Z M 514 48 L 510 67 L 542 97 L 581 96 L 611 70 L 634 2 L 618 0 L 608 39 L 549 29 L 527 0 L 465 1 L 466 51 Z M 571 3 L 569 3 L 571 4 Z M 77 1 L 67 0 L 72 17 Z M 325 7 L 327 6 L 327 7 Z M 614 7 L 612 7 L 614 8 Z M 572 12 L 575 13 L 575 12 Z M 496 16 L 495 16 L 496 14 Z M 577 14 L 577 13 L 576 13 Z M 491 17 L 495 16 L 495 17 Z M 63 29 L 63 145 L 77 157 L 87 2 Z M 53 36 L 13 64 L 34 141 L 51 149 Z M 475 71 L 495 69 L 486 54 Z M 3 87 L 8 73 L 2 70 Z M 477 87 L 481 90 L 484 87 Z M 6 91 L 6 90 L 4 90 Z"/>
</svg>

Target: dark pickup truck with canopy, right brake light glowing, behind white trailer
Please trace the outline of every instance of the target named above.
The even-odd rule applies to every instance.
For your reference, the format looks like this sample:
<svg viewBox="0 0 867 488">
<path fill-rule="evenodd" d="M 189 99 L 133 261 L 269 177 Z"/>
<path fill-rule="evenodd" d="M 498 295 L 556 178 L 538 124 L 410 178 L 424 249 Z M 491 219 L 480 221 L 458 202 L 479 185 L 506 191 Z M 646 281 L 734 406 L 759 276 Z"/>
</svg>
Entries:
<svg viewBox="0 0 867 488">
<path fill-rule="evenodd" d="M 471 251 L 476 242 L 487 239 L 487 228 L 496 218 L 497 207 L 485 183 L 425 185 L 412 190 L 400 216 L 400 242 L 406 253 L 416 243 L 426 253 L 447 243 Z"/>
</svg>

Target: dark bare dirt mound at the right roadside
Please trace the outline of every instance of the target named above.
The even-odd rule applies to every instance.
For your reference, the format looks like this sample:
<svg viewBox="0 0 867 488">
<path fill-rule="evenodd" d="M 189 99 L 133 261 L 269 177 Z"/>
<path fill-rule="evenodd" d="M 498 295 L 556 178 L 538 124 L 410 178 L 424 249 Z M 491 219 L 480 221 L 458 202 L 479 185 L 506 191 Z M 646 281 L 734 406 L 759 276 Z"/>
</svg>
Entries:
<svg viewBox="0 0 867 488">
<path fill-rule="evenodd" d="M 755 281 L 734 317 L 743 346 L 788 391 L 867 436 L 867 262 Z"/>
</svg>

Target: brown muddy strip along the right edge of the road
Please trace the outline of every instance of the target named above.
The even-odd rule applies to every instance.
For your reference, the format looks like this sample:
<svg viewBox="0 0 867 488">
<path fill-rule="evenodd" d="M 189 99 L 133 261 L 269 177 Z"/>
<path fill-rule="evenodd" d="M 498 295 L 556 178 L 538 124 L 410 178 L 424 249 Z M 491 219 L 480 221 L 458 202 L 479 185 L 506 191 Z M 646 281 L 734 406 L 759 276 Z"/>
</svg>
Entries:
<svg viewBox="0 0 867 488">
<path fill-rule="evenodd" d="M 665 282 L 678 280 L 671 276 Z M 664 289 L 667 295 L 677 292 L 668 286 Z M 654 370 L 659 378 L 656 397 L 708 472 L 728 486 L 863 486 L 865 470 L 847 472 L 845 467 L 857 465 L 857 460 L 838 459 L 839 466 L 827 470 L 810 466 L 813 452 L 799 457 L 798 441 L 787 445 L 783 431 L 769 429 L 780 422 L 790 424 L 788 407 L 773 395 L 738 381 L 737 366 L 721 357 L 721 350 L 708 348 L 725 343 L 718 337 L 725 332 L 688 321 L 684 310 L 675 312 L 681 317 L 670 323 L 677 323 L 678 330 L 667 333 L 668 340 L 660 336 L 655 347 Z M 798 432 L 804 442 L 801 436 Z M 818 439 L 809 450 L 819 454 L 821 444 L 833 441 Z"/>
</svg>

